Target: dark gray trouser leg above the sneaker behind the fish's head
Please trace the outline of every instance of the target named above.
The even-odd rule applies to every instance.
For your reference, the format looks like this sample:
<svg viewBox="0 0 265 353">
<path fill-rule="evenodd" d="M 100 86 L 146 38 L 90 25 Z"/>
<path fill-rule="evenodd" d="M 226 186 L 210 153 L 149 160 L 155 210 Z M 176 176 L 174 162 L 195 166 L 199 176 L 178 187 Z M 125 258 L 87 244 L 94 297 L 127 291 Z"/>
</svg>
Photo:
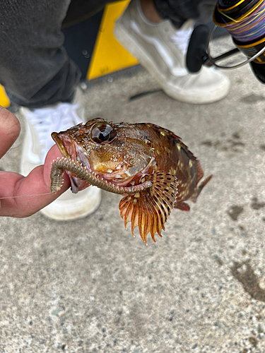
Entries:
<svg viewBox="0 0 265 353">
<path fill-rule="evenodd" d="M 36 108 L 71 100 L 81 74 L 63 47 L 69 3 L 0 1 L 0 83 L 11 101 Z"/>
</svg>

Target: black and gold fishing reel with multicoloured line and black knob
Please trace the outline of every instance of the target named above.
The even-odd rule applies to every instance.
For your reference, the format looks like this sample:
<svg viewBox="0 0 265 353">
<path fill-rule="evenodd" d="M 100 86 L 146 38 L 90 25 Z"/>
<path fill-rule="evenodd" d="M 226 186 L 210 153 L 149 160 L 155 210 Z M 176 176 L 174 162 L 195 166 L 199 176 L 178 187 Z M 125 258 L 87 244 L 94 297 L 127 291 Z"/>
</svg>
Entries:
<svg viewBox="0 0 265 353">
<path fill-rule="evenodd" d="M 188 70 L 196 73 L 202 65 L 231 70 L 250 64 L 254 75 L 265 84 L 265 0 L 218 0 L 213 22 L 211 33 L 206 25 L 194 29 L 186 57 Z M 213 57 L 210 47 L 218 27 L 228 30 L 235 48 Z M 239 52 L 247 57 L 245 61 L 231 66 L 218 65 L 218 61 Z"/>
</svg>

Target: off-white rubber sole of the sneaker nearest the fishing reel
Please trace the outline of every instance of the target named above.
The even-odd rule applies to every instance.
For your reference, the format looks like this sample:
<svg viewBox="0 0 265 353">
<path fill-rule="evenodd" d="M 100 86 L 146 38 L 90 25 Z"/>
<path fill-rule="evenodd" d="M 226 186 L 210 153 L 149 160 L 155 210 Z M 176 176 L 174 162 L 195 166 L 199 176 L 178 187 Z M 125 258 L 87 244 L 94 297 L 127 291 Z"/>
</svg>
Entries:
<svg viewBox="0 0 265 353">
<path fill-rule="evenodd" d="M 191 104 L 208 104 L 217 102 L 218 100 L 223 100 L 223 98 L 228 95 L 230 83 L 229 80 L 226 79 L 223 86 L 220 85 L 218 90 L 207 92 L 207 95 L 204 98 L 202 98 L 201 95 L 197 95 L 196 93 L 191 94 L 190 92 L 188 96 L 187 92 L 177 90 L 176 87 L 165 83 L 165 80 L 161 77 L 158 68 L 156 68 L 155 63 L 151 59 L 151 56 L 148 56 L 146 52 L 141 49 L 138 42 L 134 40 L 134 37 L 129 35 L 129 33 L 124 30 L 124 25 L 122 24 L 120 18 L 116 21 L 114 36 L 133 56 L 136 57 L 136 59 L 141 62 L 141 65 L 145 67 L 146 70 L 158 81 L 164 92 L 173 99 Z"/>
</svg>

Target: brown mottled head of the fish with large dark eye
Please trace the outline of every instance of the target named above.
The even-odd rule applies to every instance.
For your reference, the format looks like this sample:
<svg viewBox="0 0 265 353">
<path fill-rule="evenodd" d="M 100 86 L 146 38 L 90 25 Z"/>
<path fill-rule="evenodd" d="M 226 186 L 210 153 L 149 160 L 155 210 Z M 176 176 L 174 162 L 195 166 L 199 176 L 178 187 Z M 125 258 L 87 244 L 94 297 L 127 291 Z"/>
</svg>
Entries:
<svg viewBox="0 0 265 353">
<path fill-rule="evenodd" d="M 52 138 L 63 157 L 80 162 L 88 172 L 114 184 L 139 179 L 153 163 L 153 148 L 132 133 L 128 124 L 97 118 L 52 133 Z"/>
</svg>

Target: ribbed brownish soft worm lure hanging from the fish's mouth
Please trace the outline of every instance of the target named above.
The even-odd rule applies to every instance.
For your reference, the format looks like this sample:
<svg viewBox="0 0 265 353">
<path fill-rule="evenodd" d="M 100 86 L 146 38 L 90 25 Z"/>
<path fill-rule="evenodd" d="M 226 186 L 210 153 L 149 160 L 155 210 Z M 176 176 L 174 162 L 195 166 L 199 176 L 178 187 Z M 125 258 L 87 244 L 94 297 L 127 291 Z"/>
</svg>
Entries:
<svg viewBox="0 0 265 353">
<path fill-rule="evenodd" d="M 98 186 L 98 188 L 102 190 L 110 191 L 111 193 L 118 193 L 120 195 L 123 193 L 137 193 L 138 191 L 145 191 L 152 186 L 151 181 L 145 181 L 143 184 L 135 186 L 114 185 L 110 181 L 103 181 L 103 178 L 100 179 L 100 177 L 98 177 L 98 175 L 94 172 L 89 173 L 81 163 L 63 157 L 54 160 L 52 163 L 52 183 L 50 188 L 52 193 L 57 193 L 57 191 L 61 189 L 64 170 L 73 172 L 78 178 L 87 181 L 90 185 Z"/>
</svg>

